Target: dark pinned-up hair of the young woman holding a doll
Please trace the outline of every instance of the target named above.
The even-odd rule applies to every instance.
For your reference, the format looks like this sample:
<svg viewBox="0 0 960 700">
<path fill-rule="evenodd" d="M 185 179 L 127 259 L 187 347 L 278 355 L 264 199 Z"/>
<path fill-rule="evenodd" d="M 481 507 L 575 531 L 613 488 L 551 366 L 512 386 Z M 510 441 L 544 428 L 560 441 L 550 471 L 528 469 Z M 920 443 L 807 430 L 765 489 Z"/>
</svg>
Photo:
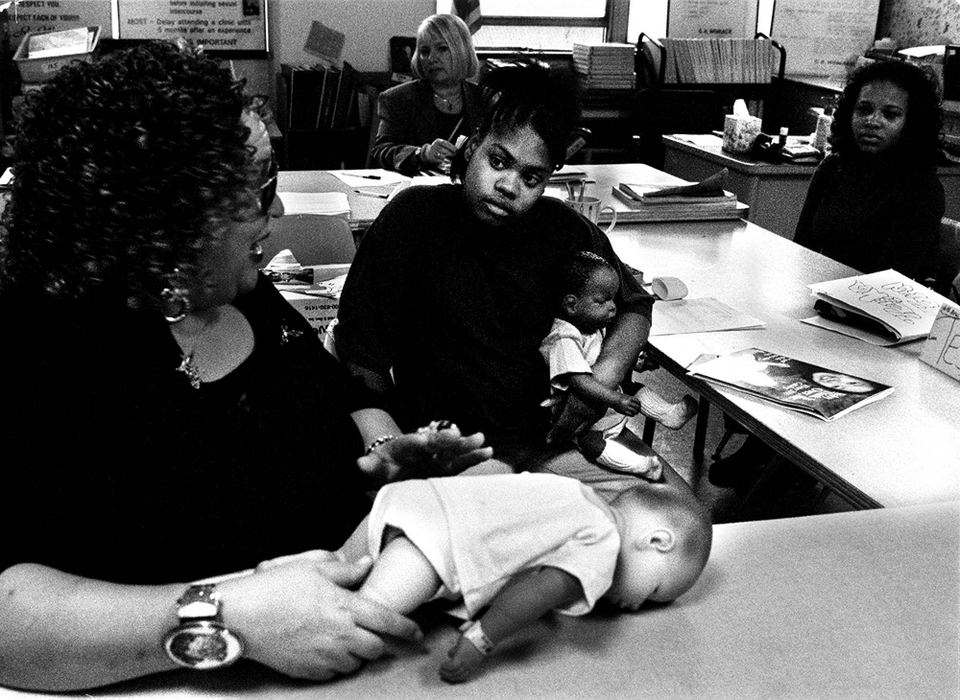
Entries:
<svg viewBox="0 0 960 700">
<path fill-rule="evenodd" d="M 570 135 L 580 119 L 580 100 L 571 74 L 552 71 L 539 62 L 497 68 L 480 82 L 480 124 L 475 137 L 532 128 L 547 147 L 554 169 L 566 159 Z M 463 179 L 466 159 L 461 148 L 450 166 L 452 178 Z"/>
</svg>

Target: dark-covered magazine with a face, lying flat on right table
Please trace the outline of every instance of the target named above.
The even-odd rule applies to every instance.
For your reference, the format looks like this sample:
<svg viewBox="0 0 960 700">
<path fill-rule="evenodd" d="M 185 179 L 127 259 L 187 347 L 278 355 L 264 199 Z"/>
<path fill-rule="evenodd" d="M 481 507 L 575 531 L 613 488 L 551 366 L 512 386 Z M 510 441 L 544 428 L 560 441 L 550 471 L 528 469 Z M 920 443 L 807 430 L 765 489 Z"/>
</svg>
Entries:
<svg viewBox="0 0 960 700">
<path fill-rule="evenodd" d="M 689 373 L 823 421 L 893 393 L 888 384 L 760 348 L 721 355 Z"/>
</svg>

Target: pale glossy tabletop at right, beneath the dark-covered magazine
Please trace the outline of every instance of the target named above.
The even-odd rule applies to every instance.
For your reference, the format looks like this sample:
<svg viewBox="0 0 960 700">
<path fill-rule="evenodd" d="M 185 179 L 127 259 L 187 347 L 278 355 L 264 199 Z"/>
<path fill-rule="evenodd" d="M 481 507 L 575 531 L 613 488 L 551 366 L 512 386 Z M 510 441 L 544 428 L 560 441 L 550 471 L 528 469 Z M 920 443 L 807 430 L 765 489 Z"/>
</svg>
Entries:
<svg viewBox="0 0 960 700">
<path fill-rule="evenodd" d="M 743 221 L 618 225 L 610 239 L 647 279 L 680 277 L 691 297 L 715 297 L 766 322 L 762 330 L 652 336 L 664 368 L 691 389 L 851 505 L 960 499 L 960 385 L 919 361 L 922 341 L 881 348 L 799 320 L 814 313 L 806 285 L 849 276 L 851 268 Z M 717 389 L 684 371 L 701 353 L 750 346 L 895 389 L 827 423 Z"/>
</svg>

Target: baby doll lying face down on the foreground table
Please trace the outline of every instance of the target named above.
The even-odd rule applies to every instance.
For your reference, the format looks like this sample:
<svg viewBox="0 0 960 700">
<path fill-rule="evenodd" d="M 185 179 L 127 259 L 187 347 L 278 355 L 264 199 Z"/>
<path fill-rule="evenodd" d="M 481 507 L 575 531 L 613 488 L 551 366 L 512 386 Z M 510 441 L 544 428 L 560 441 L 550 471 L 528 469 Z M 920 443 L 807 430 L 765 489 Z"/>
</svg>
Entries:
<svg viewBox="0 0 960 700">
<path fill-rule="evenodd" d="M 361 595 L 407 614 L 462 600 L 472 622 L 440 676 L 467 680 L 496 645 L 545 613 L 625 610 L 688 590 L 710 553 L 692 491 L 638 480 L 607 504 L 554 474 L 415 479 L 377 494 L 340 556 L 375 558 Z"/>
</svg>

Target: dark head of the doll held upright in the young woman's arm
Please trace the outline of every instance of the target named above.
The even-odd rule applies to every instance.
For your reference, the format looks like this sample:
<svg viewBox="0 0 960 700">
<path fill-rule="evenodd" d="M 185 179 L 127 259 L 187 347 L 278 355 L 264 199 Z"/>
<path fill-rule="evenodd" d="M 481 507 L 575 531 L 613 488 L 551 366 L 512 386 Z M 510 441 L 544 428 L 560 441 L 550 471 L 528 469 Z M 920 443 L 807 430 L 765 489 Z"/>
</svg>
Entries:
<svg viewBox="0 0 960 700">
<path fill-rule="evenodd" d="M 581 250 L 560 275 L 560 317 L 584 333 L 606 327 L 617 315 L 614 303 L 620 278 L 596 253 Z"/>
</svg>

